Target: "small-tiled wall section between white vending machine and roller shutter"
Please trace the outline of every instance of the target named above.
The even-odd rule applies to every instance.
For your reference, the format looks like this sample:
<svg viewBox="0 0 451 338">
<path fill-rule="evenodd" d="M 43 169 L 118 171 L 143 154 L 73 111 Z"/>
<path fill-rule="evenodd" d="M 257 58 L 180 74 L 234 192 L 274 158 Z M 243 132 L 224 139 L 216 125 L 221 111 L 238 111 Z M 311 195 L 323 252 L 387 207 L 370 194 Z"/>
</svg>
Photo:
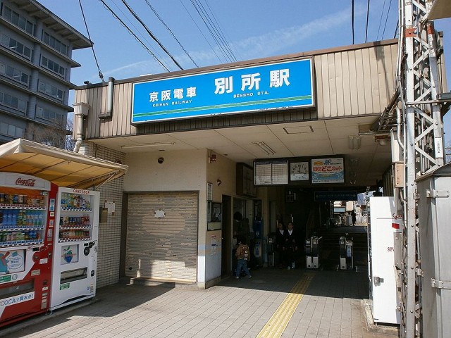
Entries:
<svg viewBox="0 0 451 338">
<path fill-rule="evenodd" d="M 112 162 L 121 161 L 121 163 L 123 163 L 125 156 L 120 151 L 113 151 L 91 142 L 82 144 L 80 154 Z M 90 189 L 100 192 L 100 206 L 104 206 L 105 201 L 112 201 L 116 207 L 114 215 L 108 215 L 107 222 L 99 224 L 97 253 L 97 288 L 99 288 L 115 284 L 119 280 L 123 177 L 108 182 L 101 187 L 92 187 Z"/>
</svg>

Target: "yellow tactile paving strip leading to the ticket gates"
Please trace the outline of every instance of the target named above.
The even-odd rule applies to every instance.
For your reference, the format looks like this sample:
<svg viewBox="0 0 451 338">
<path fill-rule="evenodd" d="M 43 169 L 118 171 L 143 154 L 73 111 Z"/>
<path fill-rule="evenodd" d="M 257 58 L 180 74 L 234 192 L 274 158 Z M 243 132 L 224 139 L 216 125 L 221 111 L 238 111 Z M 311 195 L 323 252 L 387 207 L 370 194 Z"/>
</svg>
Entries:
<svg viewBox="0 0 451 338">
<path fill-rule="evenodd" d="M 268 323 L 266 323 L 263 329 L 261 329 L 257 337 L 276 338 L 282 336 L 285 327 L 287 327 L 288 323 L 290 323 L 290 319 L 295 312 L 297 305 L 301 301 L 302 296 L 304 296 L 304 293 L 309 287 L 313 277 L 313 272 L 307 272 L 302 275 L 302 278 L 296 283 L 295 287 L 291 289 L 290 293 L 285 297 L 276 312 L 274 312 L 272 317 L 268 320 Z"/>
</svg>

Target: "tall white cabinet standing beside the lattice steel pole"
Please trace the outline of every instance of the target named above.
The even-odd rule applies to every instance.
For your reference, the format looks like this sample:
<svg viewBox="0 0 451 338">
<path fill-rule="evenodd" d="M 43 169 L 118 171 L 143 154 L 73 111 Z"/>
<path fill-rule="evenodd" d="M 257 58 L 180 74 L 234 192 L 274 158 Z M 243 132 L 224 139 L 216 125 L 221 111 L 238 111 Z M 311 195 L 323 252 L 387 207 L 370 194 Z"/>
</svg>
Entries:
<svg viewBox="0 0 451 338">
<path fill-rule="evenodd" d="M 368 205 L 369 289 L 375 323 L 400 324 L 394 235 L 400 232 L 393 197 L 371 197 Z"/>
</svg>

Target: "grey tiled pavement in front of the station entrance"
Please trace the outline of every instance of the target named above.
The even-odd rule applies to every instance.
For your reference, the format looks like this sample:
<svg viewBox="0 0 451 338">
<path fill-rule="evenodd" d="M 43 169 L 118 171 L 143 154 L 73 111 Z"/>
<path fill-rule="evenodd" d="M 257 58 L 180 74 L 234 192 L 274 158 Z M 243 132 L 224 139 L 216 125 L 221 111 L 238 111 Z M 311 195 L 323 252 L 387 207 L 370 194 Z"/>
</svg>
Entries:
<svg viewBox="0 0 451 338">
<path fill-rule="evenodd" d="M 288 323 L 280 324 L 283 333 L 265 335 L 266 323 L 307 275 L 313 277 L 294 298 Z M 7 327 L 0 337 L 397 337 L 396 330 L 367 330 L 367 278 L 355 271 L 261 268 L 252 279 L 230 278 L 206 290 L 115 284 L 97 290 L 94 303 Z"/>
</svg>

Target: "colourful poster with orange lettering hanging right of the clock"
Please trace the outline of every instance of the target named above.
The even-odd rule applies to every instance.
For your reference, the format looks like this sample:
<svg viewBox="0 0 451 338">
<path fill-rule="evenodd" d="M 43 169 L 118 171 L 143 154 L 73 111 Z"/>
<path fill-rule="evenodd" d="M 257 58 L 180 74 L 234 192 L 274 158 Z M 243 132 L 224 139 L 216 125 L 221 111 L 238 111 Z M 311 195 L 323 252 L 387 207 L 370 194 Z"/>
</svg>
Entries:
<svg viewBox="0 0 451 338">
<path fill-rule="evenodd" d="M 344 183 L 345 166 L 342 157 L 311 160 L 311 183 Z"/>
</svg>

